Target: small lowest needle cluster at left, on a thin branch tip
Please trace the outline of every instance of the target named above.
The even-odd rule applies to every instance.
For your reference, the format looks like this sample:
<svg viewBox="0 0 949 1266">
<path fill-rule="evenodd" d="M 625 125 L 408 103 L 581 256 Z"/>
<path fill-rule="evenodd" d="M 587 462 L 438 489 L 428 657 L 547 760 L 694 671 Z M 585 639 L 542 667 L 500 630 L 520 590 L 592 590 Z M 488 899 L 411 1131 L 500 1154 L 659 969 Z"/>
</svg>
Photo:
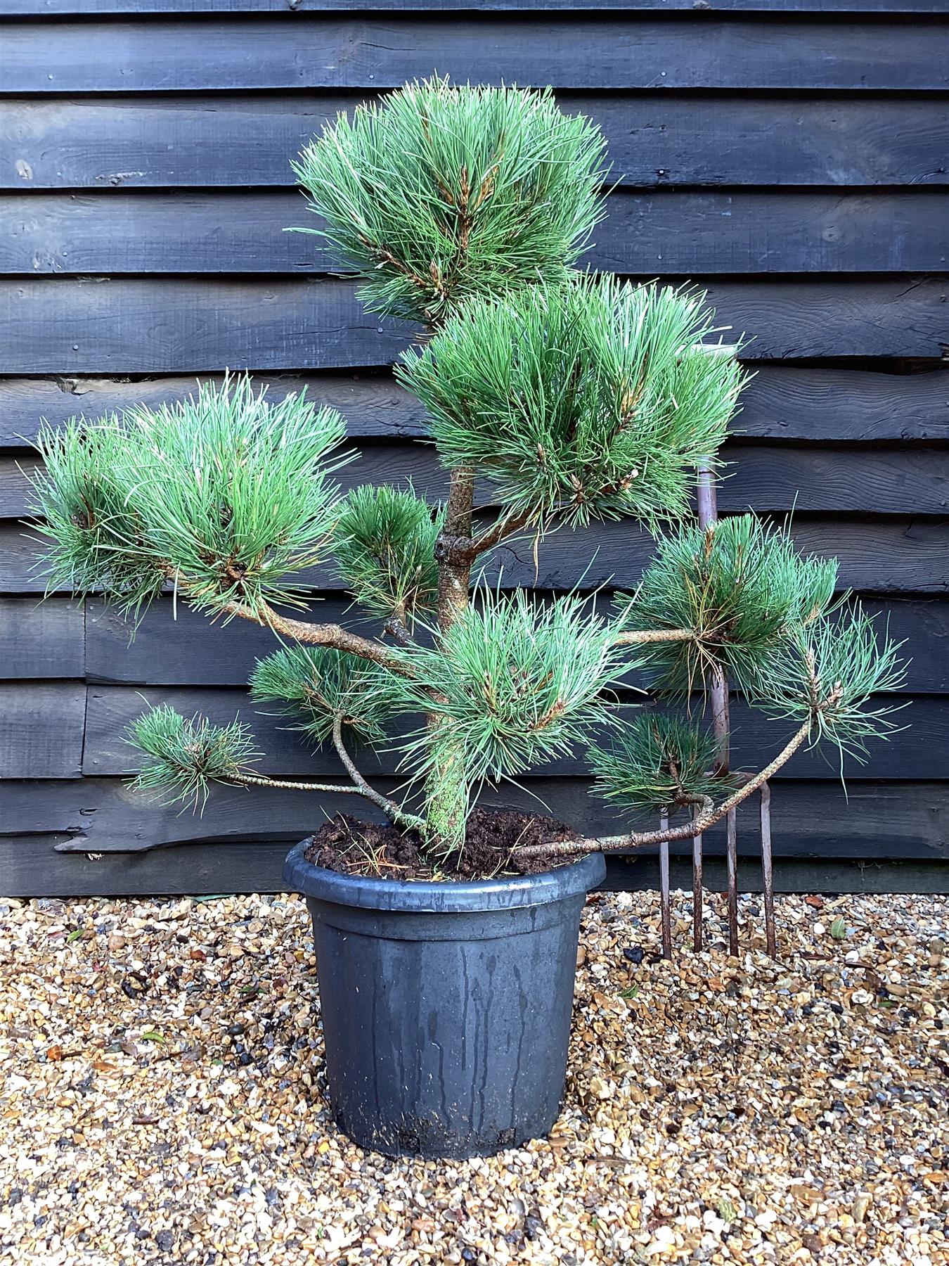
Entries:
<svg viewBox="0 0 949 1266">
<path fill-rule="evenodd" d="M 213 782 L 233 784 L 252 774 L 261 760 L 247 725 L 213 725 L 206 717 L 190 720 L 167 704 L 153 708 L 129 725 L 128 741 L 142 752 L 132 784 L 162 804 L 180 801 L 204 809 Z"/>
</svg>

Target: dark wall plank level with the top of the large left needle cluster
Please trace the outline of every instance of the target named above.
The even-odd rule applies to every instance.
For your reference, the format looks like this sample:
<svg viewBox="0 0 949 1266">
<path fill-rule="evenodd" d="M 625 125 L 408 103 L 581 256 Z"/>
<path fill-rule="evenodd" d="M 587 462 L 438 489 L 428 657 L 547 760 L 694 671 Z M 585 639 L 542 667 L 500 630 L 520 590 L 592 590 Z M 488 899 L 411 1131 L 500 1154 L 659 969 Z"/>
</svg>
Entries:
<svg viewBox="0 0 949 1266">
<path fill-rule="evenodd" d="M 220 381 L 220 375 L 201 375 Z M 343 411 L 353 437 L 425 434 L 419 403 L 385 371 L 375 373 L 257 375 L 259 386 L 282 400 L 306 390 L 310 399 Z M 128 379 L 0 377 L 0 448 L 23 448 L 42 418 L 58 425 L 133 404 L 157 406 L 194 394 L 197 377 Z M 884 442 L 949 439 L 949 368 L 884 373 L 820 366 L 760 363 L 741 394 L 738 434 L 755 439 Z"/>
</svg>

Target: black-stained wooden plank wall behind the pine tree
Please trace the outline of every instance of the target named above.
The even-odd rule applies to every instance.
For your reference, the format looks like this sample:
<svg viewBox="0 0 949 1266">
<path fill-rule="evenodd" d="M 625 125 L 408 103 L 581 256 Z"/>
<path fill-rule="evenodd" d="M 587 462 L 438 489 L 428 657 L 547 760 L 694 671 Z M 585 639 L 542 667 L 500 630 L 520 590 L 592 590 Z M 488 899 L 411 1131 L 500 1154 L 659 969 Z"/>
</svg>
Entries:
<svg viewBox="0 0 949 1266">
<path fill-rule="evenodd" d="M 275 889 L 286 842 L 338 808 L 224 791 L 196 819 L 132 796 L 121 730 L 143 698 L 247 715 L 268 643 L 175 623 L 162 603 L 129 647 L 99 601 L 37 605 L 23 471 L 40 417 L 181 396 L 229 366 L 339 404 L 364 456 L 347 477 L 438 492 L 411 443 L 419 410 L 388 373 L 406 332 L 362 313 L 314 238 L 282 232 L 306 223 L 300 146 L 434 68 L 550 82 L 602 125 L 620 180 L 590 262 L 693 279 L 752 338 L 723 508 L 795 508 L 798 539 L 836 555 L 843 584 L 911 643 L 911 729 L 852 770 L 849 803 L 814 753 L 776 782 L 779 884 L 949 887 L 944 16 L 943 0 L 5 0 L 0 890 Z M 504 582 L 631 585 L 648 552 L 625 524 L 562 533 L 537 573 L 504 551 Z M 321 598 L 342 613 L 342 595 Z M 333 771 L 272 719 L 257 728 L 271 772 Z M 748 760 L 777 738 L 738 710 Z M 392 785 L 391 762 L 368 772 Z M 609 822 L 577 761 L 530 790 Z"/>
</svg>

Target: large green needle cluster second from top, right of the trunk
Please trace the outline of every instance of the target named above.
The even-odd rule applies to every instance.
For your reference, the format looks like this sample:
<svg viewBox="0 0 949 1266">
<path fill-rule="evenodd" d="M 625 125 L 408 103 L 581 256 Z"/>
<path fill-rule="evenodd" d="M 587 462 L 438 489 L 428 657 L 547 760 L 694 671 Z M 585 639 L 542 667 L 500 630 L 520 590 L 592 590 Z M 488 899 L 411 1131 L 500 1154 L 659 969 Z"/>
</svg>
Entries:
<svg viewBox="0 0 949 1266">
<path fill-rule="evenodd" d="M 469 303 L 399 377 L 425 405 L 447 468 L 569 524 L 688 511 L 735 410 L 741 371 L 698 344 L 704 296 L 614 277 Z"/>
</svg>

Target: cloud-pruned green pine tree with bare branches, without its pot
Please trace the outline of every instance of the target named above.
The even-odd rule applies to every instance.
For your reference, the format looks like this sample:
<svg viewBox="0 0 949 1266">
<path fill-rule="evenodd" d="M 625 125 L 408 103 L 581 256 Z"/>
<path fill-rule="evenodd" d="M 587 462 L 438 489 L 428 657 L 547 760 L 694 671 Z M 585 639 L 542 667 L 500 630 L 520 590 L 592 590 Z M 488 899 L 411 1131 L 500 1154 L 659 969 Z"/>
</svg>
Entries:
<svg viewBox="0 0 949 1266">
<path fill-rule="evenodd" d="M 693 524 L 696 472 L 717 466 L 743 371 L 715 348 L 701 294 L 574 271 L 604 214 L 590 122 L 549 92 L 434 80 L 340 116 L 294 167 L 321 216 L 307 232 L 366 306 L 423 327 L 397 376 L 426 409 L 448 498 L 344 496 L 340 415 L 302 394 L 270 401 L 244 376 L 43 430 L 34 508 L 51 584 L 101 590 L 133 618 L 171 586 L 220 624 L 270 628 L 281 647 L 257 663 L 254 700 L 332 744 L 347 775 L 275 780 L 243 723 L 162 706 L 130 730 L 140 789 L 195 806 L 213 782 L 345 791 L 444 857 L 483 782 L 581 746 L 593 793 L 626 822 L 533 848 L 555 857 L 691 837 L 803 744 L 859 758 L 893 728 L 878 696 L 902 680 L 897 647 L 835 596 L 836 565 L 750 514 Z M 502 542 L 539 549 L 553 530 L 620 518 L 657 548 L 612 605 L 473 584 Z M 301 618 L 316 565 L 378 638 Z M 766 768 L 723 775 L 702 715 L 716 674 L 791 727 Z M 614 691 L 631 680 L 666 710 L 625 719 Z M 400 800 L 368 785 L 353 741 L 401 751 Z M 633 830 L 636 814 L 677 812 L 687 820 Z"/>
</svg>

